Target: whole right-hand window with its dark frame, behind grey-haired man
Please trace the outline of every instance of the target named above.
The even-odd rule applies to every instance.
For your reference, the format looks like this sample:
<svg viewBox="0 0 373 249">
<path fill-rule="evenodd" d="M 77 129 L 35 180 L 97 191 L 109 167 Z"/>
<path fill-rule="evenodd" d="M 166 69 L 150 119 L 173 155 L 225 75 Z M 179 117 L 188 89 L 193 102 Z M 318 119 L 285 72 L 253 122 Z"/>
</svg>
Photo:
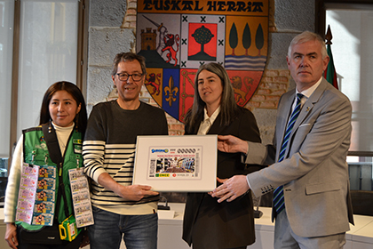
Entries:
<svg viewBox="0 0 373 249">
<path fill-rule="evenodd" d="M 324 20 L 316 30 L 325 34 L 324 30 L 330 27 L 339 90 L 347 95 L 353 106 L 353 133 L 347 157 L 351 189 L 371 191 L 373 44 L 370 41 L 373 39 L 373 3 L 366 0 L 316 2 L 320 20 Z"/>
</svg>

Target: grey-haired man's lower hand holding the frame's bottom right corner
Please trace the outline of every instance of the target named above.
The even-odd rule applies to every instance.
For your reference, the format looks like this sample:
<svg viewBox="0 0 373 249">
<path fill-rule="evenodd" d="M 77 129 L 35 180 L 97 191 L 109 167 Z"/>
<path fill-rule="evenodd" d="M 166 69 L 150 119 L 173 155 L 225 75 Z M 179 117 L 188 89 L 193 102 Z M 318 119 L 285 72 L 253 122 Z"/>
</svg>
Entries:
<svg viewBox="0 0 373 249">
<path fill-rule="evenodd" d="M 235 198 L 242 196 L 250 188 L 245 175 L 234 175 L 229 179 L 219 179 L 218 182 L 223 183 L 210 192 L 211 197 L 218 197 L 218 203 L 223 201 L 231 202 Z"/>
</svg>

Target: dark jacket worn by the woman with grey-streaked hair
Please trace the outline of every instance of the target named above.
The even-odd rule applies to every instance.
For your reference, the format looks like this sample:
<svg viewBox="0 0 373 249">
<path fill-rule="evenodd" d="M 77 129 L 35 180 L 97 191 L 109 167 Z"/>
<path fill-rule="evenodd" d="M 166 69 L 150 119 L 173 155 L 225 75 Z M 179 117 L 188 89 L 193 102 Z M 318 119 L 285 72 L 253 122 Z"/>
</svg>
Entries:
<svg viewBox="0 0 373 249">
<path fill-rule="evenodd" d="M 228 126 L 220 125 L 218 115 L 208 134 L 231 134 L 246 141 L 260 142 L 258 125 L 250 110 L 240 108 L 237 118 Z M 198 132 L 203 116 L 193 127 Z M 187 127 L 186 127 L 187 128 Z M 186 129 L 187 131 L 187 129 Z M 241 153 L 218 151 L 218 178 L 257 171 L 258 165 L 242 164 Z M 251 193 L 231 203 L 218 204 L 207 193 L 188 193 L 183 223 L 183 239 L 194 248 L 234 248 L 255 242 L 254 214 Z"/>
</svg>

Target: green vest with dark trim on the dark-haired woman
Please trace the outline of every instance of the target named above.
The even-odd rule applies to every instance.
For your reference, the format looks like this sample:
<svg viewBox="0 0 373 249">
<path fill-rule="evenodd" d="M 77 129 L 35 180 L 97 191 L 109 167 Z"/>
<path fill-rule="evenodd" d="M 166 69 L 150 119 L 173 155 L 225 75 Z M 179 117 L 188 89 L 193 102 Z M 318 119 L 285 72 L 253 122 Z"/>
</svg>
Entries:
<svg viewBox="0 0 373 249">
<path fill-rule="evenodd" d="M 73 200 L 71 197 L 70 181 L 68 178 L 68 170 L 75 169 L 77 165 L 83 167 L 82 157 L 82 145 L 83 138 L 82 133 L 78 133 L 73 130 L 67 141 L 67 148 L 64 155 L 64 163 L 62 167 L 62 179 L 65 187 L 65 193 L 67 197 L 67 204 L 64 203 L 62 194 L 60 195 L 60 208 L 59 213 L 54 213 L 54 217 L 58 215 L 58 221 L 61 223 L 67 216 L 65 209 L 67 208 L 69 214 L 74 214 Z M 44 133 L 42 127 L 38 126 L 23 131 L 23 157 L 24 162 L 32 165 L 53 165 L 56 166 L 56 192 L 55 192 L 55 203 L 57 203 L 58 191 L 59 191 L 59 169 L 55 163 L 52 162 L 49 157 L 49 151 L 44 140 Z M 34 161 L 33 161 L 34 158 Z M 46 160 L 46 164 L 45 164 Z M 56 210 L 56 206 L 55 206 Z M 26 222 L 16 222 L 17 225 L 21 225 L 23 228 L 28 230 L 41 229 L 43 225 L 29 225 Z"/>
</svg>

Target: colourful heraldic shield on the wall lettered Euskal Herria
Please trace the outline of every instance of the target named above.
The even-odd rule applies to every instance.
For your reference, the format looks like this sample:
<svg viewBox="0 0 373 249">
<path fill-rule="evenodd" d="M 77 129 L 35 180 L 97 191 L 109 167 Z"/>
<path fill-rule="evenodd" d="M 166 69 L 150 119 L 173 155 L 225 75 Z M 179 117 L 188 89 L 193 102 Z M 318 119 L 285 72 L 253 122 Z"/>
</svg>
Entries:
<svg viewBox="0 0 373 249">
<path fill-rule="evenodd" d="M 139 0 L 136 52 L 147 61 L 147 91 L 183 122 L 198 68 L 226 68 L 234 98 L 245 106 L 258 88 L 268 52 L 268 0 Z"/>
</svg>

